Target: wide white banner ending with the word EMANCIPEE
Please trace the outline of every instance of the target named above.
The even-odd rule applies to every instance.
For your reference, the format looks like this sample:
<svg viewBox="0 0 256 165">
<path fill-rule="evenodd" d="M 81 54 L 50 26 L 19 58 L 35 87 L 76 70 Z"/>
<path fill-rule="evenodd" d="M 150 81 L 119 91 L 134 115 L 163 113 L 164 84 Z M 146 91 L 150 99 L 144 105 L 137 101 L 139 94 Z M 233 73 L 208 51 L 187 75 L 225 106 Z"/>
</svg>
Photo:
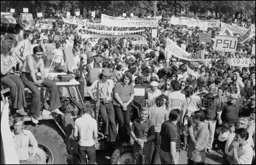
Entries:
<svg viewBox="0 0 256 165">
<path fill-rule="evenodd" d="M 158 26 L 158 19 L 156 17 L 151 17 L 147 19 L 144 19 L 144 18 L 135 19 L 134 17 L 116 19 L 115 17 L 102 14 L 101 24 L 104 26 L 114 26 L 114 27 L 152 27 L 152 28 L 155 27 L 156 28 Z"/>
</svg>

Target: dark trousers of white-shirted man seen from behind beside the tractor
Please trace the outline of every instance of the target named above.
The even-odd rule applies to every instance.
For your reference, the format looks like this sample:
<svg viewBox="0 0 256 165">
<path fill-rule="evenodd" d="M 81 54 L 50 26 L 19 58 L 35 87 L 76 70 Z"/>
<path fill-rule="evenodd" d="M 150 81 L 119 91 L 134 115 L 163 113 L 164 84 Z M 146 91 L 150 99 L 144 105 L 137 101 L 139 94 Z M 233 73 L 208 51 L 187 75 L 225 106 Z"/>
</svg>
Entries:
<svg viewBox="0 0 256 165">
<path fill-rule="evenodd" d="M 86 154 L 88 156 L 88 163 L 95 164 L 96 150 L 95 146 L 80 146 L 78 145 L 78 164 L 87 164 Z"/>
</svg>

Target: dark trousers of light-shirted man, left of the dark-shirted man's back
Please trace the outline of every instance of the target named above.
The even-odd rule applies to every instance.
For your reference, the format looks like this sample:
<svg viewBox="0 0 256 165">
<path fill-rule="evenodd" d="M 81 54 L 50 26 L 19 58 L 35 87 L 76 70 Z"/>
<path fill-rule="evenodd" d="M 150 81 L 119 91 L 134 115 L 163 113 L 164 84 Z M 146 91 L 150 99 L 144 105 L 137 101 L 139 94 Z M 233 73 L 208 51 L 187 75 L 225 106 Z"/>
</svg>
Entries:
<svg viewBox="0 0 256 165">
<path fill-rule="evenodd" d="M 161 146 L 161 135 L 156 132 L 156 139 L 152 141 L 151 146 L 151 160 L 153 164 L 160 164 L 160 146 Z"/>
</svg>

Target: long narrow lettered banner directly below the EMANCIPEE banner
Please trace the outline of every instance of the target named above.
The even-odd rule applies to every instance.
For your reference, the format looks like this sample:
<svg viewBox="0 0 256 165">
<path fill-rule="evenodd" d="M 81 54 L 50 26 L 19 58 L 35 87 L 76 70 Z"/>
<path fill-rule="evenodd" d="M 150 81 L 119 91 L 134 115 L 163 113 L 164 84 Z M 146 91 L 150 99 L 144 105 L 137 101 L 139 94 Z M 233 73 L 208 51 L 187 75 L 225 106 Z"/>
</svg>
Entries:
<svg viewBox="0 0 256 165">
<path fill-rule="evenodd" d="M 96 29 L 86 29 L 81 28 L 82 30 L 85 30 L 86 35 L 92 35 L 92 34 L 100 34 L 100 35 L 140 35 L 145 30 L 134 30 L 134 31 L 104 31 L 104 30 L 96 30 Z"/>
</svg>

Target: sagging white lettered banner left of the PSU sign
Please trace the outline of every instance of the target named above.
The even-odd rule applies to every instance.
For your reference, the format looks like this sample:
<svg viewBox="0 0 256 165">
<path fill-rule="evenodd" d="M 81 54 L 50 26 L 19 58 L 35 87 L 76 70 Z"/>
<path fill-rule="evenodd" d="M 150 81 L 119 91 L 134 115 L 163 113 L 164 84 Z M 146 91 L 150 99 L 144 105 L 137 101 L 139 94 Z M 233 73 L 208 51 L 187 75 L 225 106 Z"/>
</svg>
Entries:
<svg viewBox="0 0 256 165">
<path fill-rule="evenodd" d="M 190 54 L 184 51 L 179 45 L 167 38 L 166 51 L 168 56 L 173 55 L 180 59 L 186 59 L 188 61 L 204 61 L 204 50 Z"/>
</svg>

